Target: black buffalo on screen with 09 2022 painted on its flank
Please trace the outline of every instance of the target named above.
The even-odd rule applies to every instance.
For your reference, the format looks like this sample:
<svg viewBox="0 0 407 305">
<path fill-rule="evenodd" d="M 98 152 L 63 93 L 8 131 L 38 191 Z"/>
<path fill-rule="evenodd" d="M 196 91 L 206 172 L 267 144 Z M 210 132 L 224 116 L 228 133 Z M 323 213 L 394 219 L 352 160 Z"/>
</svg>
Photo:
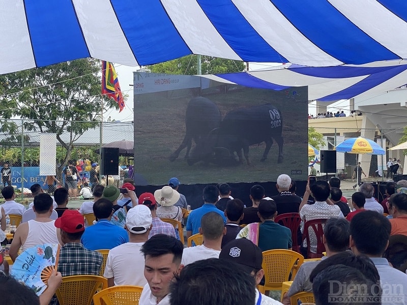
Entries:
<svg viewBox="0 0 407 305">
<path fill-rule="evenodd" d="M 269 154 L 273 138 L 278 144 L 277 162 L 283 161 L 282 116 L 280 110 L 270 104 L 232 110 L 222 120 L 220 128 L 212 130 L 188 158 L 188 164 L 198 161 L 230 165 L 230 158 L 243 163 L 243 154 L 250 165 L 249 145 L 266 143 L 263 157 Z M 236 159 L 235 159 L 236 160 Z"/>
</svg>

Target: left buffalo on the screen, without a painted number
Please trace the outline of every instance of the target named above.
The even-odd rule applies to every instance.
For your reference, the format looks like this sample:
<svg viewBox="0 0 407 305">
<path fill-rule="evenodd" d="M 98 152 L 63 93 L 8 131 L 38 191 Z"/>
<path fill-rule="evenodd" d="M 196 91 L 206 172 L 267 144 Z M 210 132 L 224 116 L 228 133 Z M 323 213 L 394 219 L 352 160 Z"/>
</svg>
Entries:
<svg viewBox="0 0 407 305">
<path fill-rule="evenodd" d="M 180 147 L 169 156 L 170 161 L 178 158 L 185 147 L 187 152 L 185 159 L 189 157 L 189 151 L 192 145 L 192 139 L 196 145 L 199 145 L 204 137 L 211 130 L 220 126 L 221 114 L 218 106 L 207 98 L 197 97 L 188 102 L 187 111 L 185 114 L 185 137 Z"/>
</svg>

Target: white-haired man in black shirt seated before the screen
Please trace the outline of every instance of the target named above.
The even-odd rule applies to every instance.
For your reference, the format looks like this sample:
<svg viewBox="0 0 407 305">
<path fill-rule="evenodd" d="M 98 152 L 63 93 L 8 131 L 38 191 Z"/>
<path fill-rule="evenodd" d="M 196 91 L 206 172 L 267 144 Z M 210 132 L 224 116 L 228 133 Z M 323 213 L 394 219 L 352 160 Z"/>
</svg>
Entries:
<svg viewBox="0 0 407 305">
<path fill-rule="evenodd" d="M 288 175 L 282 174 L 278 176 L 276 188 L 279 194 L 271 196 L 271 199 L 276 202 L 277 215 L 298 213 L 302 199 L 289 191 L 291 186 L 291 178 Z"/>
</svg>

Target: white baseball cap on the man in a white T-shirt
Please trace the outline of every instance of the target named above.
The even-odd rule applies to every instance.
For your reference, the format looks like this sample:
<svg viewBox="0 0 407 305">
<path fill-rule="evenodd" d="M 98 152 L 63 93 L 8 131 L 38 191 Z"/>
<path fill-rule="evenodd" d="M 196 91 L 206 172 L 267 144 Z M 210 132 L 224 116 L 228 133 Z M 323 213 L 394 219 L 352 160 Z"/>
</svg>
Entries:
<svg viewBox="0 0 407 305">
<path fill-rule="evenodd" d="M 131 233 L 146 233 L 153 223 L 150 208 L 143 204 L 138 204 L 127 212 L 126 227 Z"/>
</svg>

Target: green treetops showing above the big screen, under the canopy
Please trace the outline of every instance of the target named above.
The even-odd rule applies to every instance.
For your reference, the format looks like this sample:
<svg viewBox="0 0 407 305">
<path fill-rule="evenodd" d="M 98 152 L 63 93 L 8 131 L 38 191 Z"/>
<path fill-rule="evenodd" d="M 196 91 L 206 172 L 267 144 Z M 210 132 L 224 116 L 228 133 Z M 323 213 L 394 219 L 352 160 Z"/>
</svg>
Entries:
<svg viewBox="0 0 407 305">
<path fill-rule="evenodd" d="M 154 73 L 196 75 L 196 57 L 197 55 L 187 55 L 178 59 L 169 60 L 169 62 L 147 66 L 147 68 Z M 244 69 L 244 62 L 240 62 L 239 60 L 201 56 L 202 74 L 242 72 Z"/>
</svg>

